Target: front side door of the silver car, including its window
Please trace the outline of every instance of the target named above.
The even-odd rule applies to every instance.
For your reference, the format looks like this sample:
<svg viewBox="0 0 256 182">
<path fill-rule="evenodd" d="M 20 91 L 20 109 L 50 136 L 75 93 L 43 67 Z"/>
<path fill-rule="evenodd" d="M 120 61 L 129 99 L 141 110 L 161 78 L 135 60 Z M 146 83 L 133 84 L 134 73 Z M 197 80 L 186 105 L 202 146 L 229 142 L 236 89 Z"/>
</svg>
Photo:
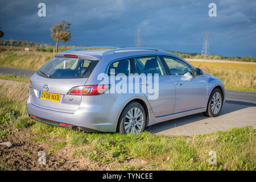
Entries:
<svg viewBox="0 0 256 182">
<path fill-rule="evenodd" d="M 194 76 L 191 66 L 176 57 L 161 56 L 161 59 L 175 82 L 174 113 L 205 107 L 207 82 L 203 77 Z"/>
</svg>

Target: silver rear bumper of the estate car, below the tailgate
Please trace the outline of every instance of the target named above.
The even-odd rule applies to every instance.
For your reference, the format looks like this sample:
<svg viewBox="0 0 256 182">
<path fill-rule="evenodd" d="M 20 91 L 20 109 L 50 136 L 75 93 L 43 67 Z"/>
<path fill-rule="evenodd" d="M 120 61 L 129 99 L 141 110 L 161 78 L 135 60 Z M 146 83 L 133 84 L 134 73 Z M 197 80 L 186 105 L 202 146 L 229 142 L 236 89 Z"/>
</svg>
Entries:
<svg viewBox="0 0 256 182">
<path fill-rule="evenodd" d="M 119 117 L 118 105 L 81 105 L 75 113 L 64 113 L 43 109 L 31 103 L 30 97 L 27 99 L 27 112 L 34 115 L 36 121 L 46 123 L 48 125 L 65 127 L 67 129 L 76 129 L 81 127 L 85 131 L 102 131 L 115 132 L 117 129 L 117 121 Z M 65 123 L 72 126 L 63 126 Z"/>
</svg>

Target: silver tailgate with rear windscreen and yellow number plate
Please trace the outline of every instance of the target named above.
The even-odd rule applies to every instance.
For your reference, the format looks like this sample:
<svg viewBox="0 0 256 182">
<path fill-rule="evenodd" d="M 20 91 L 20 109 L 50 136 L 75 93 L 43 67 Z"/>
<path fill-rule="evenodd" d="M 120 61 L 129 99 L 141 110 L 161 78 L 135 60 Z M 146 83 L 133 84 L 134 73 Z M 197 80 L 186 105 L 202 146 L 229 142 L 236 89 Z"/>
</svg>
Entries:
<svg viewBox="0 0 256 182">
<path fill-rule="evenodd" d="M 44 109 L 75 112 L 81 102 L 78 95 L 68 92 L 76 86 L 85 85 L 97 61 L 55 57 L 31 77 L 31 103 Z"/>
</svg>

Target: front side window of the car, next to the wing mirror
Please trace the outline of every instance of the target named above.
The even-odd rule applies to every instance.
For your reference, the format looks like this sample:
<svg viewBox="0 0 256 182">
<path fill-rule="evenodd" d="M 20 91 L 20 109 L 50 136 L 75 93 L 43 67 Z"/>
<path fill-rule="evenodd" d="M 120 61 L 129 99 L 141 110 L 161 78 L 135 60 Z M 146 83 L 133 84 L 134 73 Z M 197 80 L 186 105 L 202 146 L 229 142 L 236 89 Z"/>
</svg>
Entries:
<svg viewBox="0 0 256 182">
<path fill-rule="evenodd" d="M 183 61 L 176 59 L 175 57 L 162 56 L 166 62 L 172 76 L 192 76 L 192 68 Z"/>
</svg>

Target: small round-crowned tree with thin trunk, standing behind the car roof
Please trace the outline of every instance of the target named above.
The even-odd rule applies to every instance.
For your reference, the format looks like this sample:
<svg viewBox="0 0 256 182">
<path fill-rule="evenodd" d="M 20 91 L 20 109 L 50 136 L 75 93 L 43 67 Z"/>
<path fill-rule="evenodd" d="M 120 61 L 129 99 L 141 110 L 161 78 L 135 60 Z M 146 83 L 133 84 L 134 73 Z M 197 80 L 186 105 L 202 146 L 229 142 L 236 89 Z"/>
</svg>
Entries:
<svg viewBox="0 0 256 182">
<path fill-rule="evenodd" d="M 71 23 L 62 20 L 60 23 L 56 23 L 55 26 L 51 28 L 51 36 L 56 42 L 55 51 L 57 52 L 58 42 L 67 42 L 71 38 L 71 32 L 68 31 Z"/>
</svg>

